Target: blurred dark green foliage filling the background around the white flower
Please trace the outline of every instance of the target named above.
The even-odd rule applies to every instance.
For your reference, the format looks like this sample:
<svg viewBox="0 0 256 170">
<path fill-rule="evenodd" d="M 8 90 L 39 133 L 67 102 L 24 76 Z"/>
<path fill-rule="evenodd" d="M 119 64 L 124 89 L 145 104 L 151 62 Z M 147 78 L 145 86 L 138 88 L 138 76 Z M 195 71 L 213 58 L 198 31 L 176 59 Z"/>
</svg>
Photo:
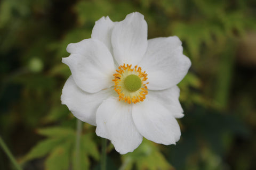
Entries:
<svg viewBox="0 0 256 170">
<path fill-rule="evenodd" d="M 74 167 L 76 119 L 61 105 L 66 47 L 102 16 L 138 11 L 148 38 L 177 35 L 192 66 L 179 87 L 185 117 L 176 146 L 143 140 L 108 169 L 255 169 L 256 2 L 253 0 L 2 0 L 0 135 L 23 169 Z M 83 124 L 81 169 L 98 169 L 100 138 Z M 0 169 L 13 169 L 0 150 Z"/>
</svg>

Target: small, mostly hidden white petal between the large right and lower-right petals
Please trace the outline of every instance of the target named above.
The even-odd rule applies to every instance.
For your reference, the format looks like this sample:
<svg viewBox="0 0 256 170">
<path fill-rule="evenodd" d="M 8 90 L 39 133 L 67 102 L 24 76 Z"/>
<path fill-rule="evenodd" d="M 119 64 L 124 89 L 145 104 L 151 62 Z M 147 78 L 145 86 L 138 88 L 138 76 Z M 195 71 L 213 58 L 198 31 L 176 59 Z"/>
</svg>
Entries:
<svg viewBox="0 0 256 170">
<path fill-rule="evenodd" d="M 158 101 L 158 103 L 167 108 L 175 118 L 181 118 L 184 114 L 180 105 L 179 96 L 180 89 L 178 86 L 174 86 L 166 90 L 149 90 L 146 98 Z"/>
</svg>

